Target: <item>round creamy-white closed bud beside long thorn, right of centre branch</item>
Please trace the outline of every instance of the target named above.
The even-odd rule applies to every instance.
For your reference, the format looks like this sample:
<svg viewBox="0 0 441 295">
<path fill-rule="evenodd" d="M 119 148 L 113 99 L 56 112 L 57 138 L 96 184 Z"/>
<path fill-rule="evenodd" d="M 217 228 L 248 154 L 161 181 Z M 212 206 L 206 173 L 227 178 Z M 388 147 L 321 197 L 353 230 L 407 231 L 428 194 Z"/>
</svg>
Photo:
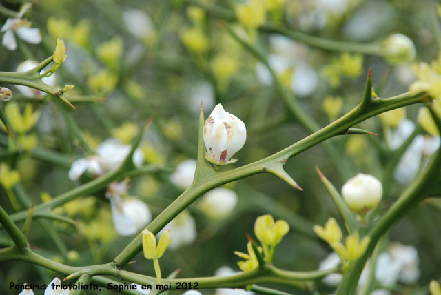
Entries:
<svg viewBox="0 0 441 295">
<path fill-rule="evenodd" d="M 366 213 L 380 202 L 382 184 L 369 174 L 359 173 L 342 187 L 342 196 L 354 212 Z"/>
</svg>

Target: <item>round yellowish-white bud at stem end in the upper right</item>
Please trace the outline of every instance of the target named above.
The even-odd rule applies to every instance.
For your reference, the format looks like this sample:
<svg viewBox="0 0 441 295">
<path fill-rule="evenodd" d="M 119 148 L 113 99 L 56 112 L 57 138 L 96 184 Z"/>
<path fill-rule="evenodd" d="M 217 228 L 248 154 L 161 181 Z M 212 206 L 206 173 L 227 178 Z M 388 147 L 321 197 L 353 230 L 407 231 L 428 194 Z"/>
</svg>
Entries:
<svg viewBox="0 0 441 295">
<path fill-rule="evenodd" d="M 415 45 L 404 34 L 391 34 L 383 41 L 383 46 L 390 63 L 409 63 L 415 59 Z"/>
</svg>

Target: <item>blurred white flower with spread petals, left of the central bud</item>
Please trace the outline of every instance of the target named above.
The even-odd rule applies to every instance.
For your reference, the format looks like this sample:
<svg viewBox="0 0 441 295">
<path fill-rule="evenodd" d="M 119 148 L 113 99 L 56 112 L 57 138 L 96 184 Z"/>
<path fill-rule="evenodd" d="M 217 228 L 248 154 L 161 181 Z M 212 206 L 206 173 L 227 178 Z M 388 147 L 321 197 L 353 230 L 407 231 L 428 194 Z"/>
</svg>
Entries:
<svg viewBox="0 0 441 295">
<path fill-rule="evenodd" d="M 104 172 L 117 169 L 129 154 L 130 149 L 130 145 L 124 145 L 118 139 L 106 139 L 96 148 L 96 154 L 88 158 L 78 159 L 72 163 L 69 170 L 69 179 L 76 181 L 86 171 L 96 177 Z M 143 152 L 136 148 L 132 159 L 136 167 L 141 167 L 144 162 Z"/>
</svg>

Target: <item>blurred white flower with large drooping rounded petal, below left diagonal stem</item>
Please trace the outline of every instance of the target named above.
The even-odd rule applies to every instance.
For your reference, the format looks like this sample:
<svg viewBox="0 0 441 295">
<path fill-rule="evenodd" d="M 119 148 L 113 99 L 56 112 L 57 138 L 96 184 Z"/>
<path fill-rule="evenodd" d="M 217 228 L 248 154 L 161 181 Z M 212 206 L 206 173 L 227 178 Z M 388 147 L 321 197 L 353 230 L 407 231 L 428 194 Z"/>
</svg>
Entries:
<svg viewBox="0 0 441 295">
<path fill-rule="evenodd" d="M 142 230 L 152 220 L 150 209 L 136 198 L 123 199 L 127 195 L 128 181 L 110 183 L 105 196 L 110 199 L 112 219 L 116 232 L 130 236 Z"/>
</svg>

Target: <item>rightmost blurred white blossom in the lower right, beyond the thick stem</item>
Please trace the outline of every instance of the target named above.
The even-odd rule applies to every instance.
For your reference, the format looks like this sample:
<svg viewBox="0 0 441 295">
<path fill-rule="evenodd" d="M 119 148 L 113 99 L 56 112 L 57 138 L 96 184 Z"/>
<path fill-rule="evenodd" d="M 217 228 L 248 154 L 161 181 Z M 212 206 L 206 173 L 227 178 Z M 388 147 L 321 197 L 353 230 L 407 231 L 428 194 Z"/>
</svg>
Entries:
<svg viewBox="0 0 441 295">
<path fill-rule="evenodd" d="M 420 278 L 420 259 L 418 251 L 413 246 L 405 246 L 400 243 L 393 243 L 389 248 L 391 256 L 400 264 L 398 279 L 405 284 L 414 284 Z"/>
</svg>

